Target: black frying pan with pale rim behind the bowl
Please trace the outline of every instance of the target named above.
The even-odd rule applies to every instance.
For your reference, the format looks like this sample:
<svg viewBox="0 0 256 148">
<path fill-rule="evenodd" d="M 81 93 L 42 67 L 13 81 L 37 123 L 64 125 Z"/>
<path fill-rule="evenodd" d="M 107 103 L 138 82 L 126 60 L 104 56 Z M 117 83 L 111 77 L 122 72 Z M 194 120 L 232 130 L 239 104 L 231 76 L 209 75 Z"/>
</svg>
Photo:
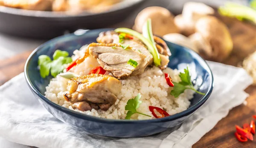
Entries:
<svg viewBox="0 0 256 148">
<path fill-rule="evenodd" d="M 98 14 L 68 15 L 0 6 L 0 32 L 15 36 L 50 39 L 77 29 L 104 28 L 122 22 L 144 0 L 123 0 L 109 11 Z"/>
</svg>

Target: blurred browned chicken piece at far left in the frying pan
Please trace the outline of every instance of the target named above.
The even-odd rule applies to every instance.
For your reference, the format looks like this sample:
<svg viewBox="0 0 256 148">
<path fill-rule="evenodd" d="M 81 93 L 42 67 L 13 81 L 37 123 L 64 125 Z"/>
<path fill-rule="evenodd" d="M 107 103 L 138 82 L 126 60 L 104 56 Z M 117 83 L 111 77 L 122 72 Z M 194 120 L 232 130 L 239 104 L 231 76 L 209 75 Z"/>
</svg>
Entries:
<svg viewBox="0 0 256 148">
<path fill-rule="evenodd" d="M 1 0 L 3 6 L 27 10 L 47 11 L 51 9 L 52 0 Z"/>
</svg>

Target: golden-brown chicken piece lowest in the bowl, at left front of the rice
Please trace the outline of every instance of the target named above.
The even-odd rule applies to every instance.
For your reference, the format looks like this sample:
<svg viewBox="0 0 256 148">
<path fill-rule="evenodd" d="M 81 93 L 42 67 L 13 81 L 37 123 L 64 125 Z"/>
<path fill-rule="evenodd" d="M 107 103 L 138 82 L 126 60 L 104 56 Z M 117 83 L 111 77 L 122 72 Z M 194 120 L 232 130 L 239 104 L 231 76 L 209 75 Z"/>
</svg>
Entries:
<svg viewBox="0 0 256 148">
<path fill-rule="evenodd" d="M 110 75 L 90 74 L 71 78 L 67 82 L 64 98 L 79 110 L 102 109 L 104 111 L 116 102 L 121 82 Z M 96 107 L 96 106 L 99 106 Z"/>
</svg>

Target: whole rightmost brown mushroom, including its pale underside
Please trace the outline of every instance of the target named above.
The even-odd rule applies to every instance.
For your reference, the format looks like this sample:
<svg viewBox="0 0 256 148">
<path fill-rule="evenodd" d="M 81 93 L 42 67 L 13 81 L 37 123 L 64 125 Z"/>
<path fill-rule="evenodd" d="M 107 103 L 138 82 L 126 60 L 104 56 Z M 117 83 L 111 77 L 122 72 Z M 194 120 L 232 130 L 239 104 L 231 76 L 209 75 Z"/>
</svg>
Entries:
<svg viewBox="0 0 256 148">
<path fill-rule="evenodd" d="M 233 42 L 227 26 L 213 16 L 205 16 L 195 24 L 195 34 L 189 36 L 204 58 L 221 62 L 232 49 Z"/>
</svg>

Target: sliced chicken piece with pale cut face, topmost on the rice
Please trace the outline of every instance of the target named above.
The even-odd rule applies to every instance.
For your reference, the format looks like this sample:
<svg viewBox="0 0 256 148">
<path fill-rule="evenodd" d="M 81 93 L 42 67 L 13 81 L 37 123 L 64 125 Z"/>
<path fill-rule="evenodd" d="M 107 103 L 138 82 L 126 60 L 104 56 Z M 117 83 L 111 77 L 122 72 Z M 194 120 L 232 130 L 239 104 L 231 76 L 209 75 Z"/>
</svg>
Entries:
<svg viewBox="0 0 256 148">
<path fill-rule="evenodd" d="M 104 70 L 112 73 L 118 79 L 125 79 L 129 75 L 140 75 L 148 66 L 148 58 L 132 47 L 123 49 L 117 44 L 92 43 L 88 45 L 89 53 L 97 58 Z M 137 62 L 133 67 L 127 62 L 132 59 Z"/>
</svg>

